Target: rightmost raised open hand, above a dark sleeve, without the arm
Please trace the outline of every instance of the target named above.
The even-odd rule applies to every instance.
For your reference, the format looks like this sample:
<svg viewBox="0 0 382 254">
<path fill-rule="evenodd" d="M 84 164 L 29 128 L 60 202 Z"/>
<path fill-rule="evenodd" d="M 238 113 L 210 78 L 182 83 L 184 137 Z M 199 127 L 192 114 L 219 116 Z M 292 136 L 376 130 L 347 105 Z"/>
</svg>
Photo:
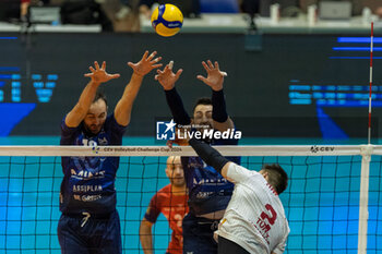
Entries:
<svg viewBox="0 0 382 254">
<path fill-rule="evenodd" d="M 207 63 L 203 61 L 202 64 L 207 72 L 207 77 L 198 75 L 198 80 L 204 82 L 204 84 L 210 86 L 213 90 L 223 89 L 224 77 L 227 76 L 227 73 L 220 71 L 218 62 L 215 61 L 215 64 L 212 64 L 212 62 L 207 60 Z"/>
</svg>

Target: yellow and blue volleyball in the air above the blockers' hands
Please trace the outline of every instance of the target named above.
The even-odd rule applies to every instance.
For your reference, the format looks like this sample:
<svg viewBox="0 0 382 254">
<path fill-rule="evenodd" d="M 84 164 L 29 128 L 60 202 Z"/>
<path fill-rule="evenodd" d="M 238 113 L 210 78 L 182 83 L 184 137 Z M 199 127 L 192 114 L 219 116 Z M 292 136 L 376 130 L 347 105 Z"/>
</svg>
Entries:
<svg viewBox="0 0 382 254">
<path fill-rule="evenodd" d="M 183 24 L 183 14 L 174 4 L 162 4 L 152 14 L 152 26 L 164 37 L 176 35 Z"/>
</svg>

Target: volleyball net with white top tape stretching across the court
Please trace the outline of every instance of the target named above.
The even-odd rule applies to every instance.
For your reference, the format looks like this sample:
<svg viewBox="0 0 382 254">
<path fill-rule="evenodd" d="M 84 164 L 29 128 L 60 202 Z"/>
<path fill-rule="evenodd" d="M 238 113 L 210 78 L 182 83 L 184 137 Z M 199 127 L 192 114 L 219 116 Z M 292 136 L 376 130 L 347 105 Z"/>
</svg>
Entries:
<svg viewBox="0 0 382 254">
<path fill-rule="evenodd" d="M 382 146 L 216 147 L 260 170 L 279 164 L 289 176 L 280 195 L 289 221 L 286 253 L 382 252 Z M 123 253 L 143 253 L 139 228 L 150 199 L 169 183 L 168 156 L 194 156 L 191 147 L 0 146 L 0 253 L 60 253 L 57 223 L 63 178 L 61 156 L 120 156 L 117 208 Z M 153 245 L 171 238 L 160 216 Z"/>
</svg>

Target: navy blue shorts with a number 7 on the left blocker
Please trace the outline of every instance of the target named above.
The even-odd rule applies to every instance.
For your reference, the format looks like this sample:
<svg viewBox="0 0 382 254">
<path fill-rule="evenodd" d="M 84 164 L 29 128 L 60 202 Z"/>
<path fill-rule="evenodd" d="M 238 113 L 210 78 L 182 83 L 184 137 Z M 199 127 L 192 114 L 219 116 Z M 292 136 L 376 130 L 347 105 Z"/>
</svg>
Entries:
<svg viewBox="0 0 382 254">
<path fill-rule="evenodd" d="M 121 254 L 118 211 L 107 216 L 61 215 L 58 240 L 62 254 Z"/>
</svg>

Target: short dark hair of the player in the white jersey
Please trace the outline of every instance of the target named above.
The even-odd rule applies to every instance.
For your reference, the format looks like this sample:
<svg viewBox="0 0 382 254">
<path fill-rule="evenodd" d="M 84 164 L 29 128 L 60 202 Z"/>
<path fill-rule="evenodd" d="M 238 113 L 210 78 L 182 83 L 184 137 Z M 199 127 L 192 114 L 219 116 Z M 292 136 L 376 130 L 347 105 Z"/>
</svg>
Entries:
<svg viewBox="0 0 382 254">
<path fill-rule="evenodd" d="M 262 169 L 268 173 L 268 183 L 282 194 L 288 186 L 288 174 L 285 170 L 278 164 L 263 165 Z"/>
</svg>

